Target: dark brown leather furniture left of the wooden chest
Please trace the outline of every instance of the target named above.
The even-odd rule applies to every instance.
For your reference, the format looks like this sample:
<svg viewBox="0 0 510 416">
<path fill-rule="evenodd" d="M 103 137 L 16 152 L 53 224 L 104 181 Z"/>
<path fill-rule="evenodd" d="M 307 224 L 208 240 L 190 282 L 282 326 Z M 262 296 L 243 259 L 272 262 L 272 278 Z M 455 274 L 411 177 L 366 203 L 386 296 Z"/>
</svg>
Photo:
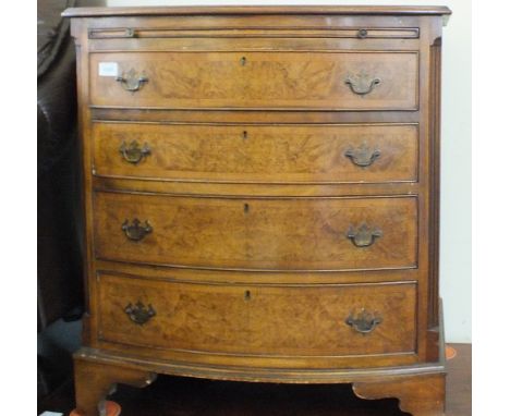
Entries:
<svg viewBox="0 0 510 416">
<path fill-rule="evenodd" d="M 39 399 L 71 377 L 72 347 L 69 345 L 80 344 L 80 332 L 68 330 L 60 322 L 80 319 L 83 310 L 75 51 L 70 22 L 60 16 L 64 9 L 76 5 L 104 5 L 104 2 L 37 2 Z M 56 325 L 60 325 L 57 331 L 51 329 Z M 45 338 L 46 333 L 51 333 L 51 337 Z M 64 341 L 59 342 L 59 338 Z M 51 341 L 44 341 L 47 339 Z"/>
</svg>

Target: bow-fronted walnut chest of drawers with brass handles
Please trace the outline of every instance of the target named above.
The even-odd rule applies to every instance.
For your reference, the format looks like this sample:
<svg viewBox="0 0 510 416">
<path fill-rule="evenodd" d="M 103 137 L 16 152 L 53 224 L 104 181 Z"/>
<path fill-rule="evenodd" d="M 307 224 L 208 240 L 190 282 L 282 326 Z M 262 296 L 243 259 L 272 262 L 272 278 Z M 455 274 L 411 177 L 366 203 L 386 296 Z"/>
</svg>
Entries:
<svg viewBox="0 0 510 416">
<path fill-rule="evenodd" d="M 77 412 L 157 374 L 444 411 L 446 8 L 70 9 L 88 311 Z"/>
</svg>

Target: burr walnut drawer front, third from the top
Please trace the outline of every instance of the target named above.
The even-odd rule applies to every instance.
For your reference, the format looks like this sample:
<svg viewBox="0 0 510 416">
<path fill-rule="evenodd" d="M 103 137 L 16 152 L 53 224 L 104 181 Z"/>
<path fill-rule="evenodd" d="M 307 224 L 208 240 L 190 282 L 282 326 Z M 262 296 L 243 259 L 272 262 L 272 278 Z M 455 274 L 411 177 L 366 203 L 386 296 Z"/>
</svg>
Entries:
<svg viewBox="0 0 510 416">
<path fill-rule="evenodd" d="M 95 194 L 98 258 L 219 269 L 416 267 L 416 197 Z"/>
</svg>

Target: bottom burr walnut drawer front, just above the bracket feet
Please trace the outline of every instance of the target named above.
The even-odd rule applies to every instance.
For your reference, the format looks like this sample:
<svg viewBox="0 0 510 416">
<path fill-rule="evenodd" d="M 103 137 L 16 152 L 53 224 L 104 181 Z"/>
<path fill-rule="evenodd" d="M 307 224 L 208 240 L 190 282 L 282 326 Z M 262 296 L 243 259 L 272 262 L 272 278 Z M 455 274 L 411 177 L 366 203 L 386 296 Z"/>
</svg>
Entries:
<svg viewBox="0 0 510 416">
<path fill-rule="evenodd" d="M 99 276 L 104 341 L 229 354 L 415 352 L 416 286 L 210 285 Z"/>
</svg>

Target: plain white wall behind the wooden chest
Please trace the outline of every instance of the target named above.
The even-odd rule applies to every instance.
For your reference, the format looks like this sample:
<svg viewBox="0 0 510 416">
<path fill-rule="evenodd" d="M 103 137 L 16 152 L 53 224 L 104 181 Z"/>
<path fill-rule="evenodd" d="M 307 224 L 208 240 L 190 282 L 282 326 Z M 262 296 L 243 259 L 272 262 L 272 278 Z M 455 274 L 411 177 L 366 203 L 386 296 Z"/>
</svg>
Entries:
<svg viewBox="0 0 510 416">
<path fill-rule="evenodd" d="M 313 1 L 109 0 L 108 5 L 314 4 Z M 328 1 L 317 4 L 448 5 L 444 33 L 440 291 L 447 341 L 471 342 L 471 0 Z"/>
</svg>

